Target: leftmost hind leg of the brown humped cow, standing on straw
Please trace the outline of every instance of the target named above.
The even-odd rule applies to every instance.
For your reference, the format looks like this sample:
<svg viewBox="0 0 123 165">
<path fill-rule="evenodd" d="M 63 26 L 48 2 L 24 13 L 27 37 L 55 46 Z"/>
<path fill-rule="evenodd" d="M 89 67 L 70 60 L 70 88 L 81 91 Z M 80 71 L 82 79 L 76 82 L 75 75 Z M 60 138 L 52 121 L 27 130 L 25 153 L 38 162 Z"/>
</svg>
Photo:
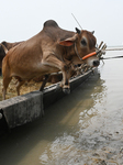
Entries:
<svg viewBox="0 0 123 165">
<path fill-rule="evenodd" d="M 7 95 L 7 88 L 11 81 L 12 77 L 4 77 L 3 78 L 3 88 L 2 88 L 2 97 L 3 97 L 3 100 L 5 100 L 5 95 Z"/>
</svg>

